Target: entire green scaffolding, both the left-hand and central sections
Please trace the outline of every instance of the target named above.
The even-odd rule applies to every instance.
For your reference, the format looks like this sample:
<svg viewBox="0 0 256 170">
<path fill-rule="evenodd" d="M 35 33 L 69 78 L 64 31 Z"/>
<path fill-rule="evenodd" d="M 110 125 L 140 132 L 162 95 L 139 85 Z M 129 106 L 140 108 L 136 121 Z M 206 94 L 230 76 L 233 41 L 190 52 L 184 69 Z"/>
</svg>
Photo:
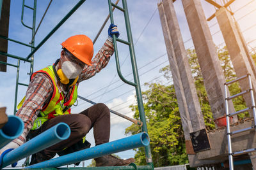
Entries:
<svg viewBox="0 0 256 170">
<path fill-rule="evenodd" d="M 0 0 L 0 2 L 1 1 L 2 0 Z M 57 31 L 60 28 L 60 26 L 79 8 L 79 6 L 81 6 L 81 4 L 84 3 L 84 1 L 86 1 L 86 0 L 80 0 L 72 8 L 72 10 L 70 10 L 67 13 L 67 15 L 65 15 L 65 17 L 63 17 L 63 19 L 52 29 L 52 31 L 49 32 L 49 34 L 47 34 L 47 36 L 45 36 L 45 38 L 40 43 L 38 43 L 37 46 L 35 46 L 34 37 L 35 37 L 35 25 L 36 25 L 35 24 L 35 22 L 36 22 L 36 0 L 34 0 L 33 8 L 31 8 L 30 6 L 27 6 L 25 4 L 25 0 L 23 0 L 23 2 L 22 2 L 21 22 L 22 22 L 22 25 L 24 25 L 28 29 L 31 29 L 31 31 L 32 31 L 31 45 L 28 45 L 26 43 L 22 43 L 20 41 L 16 41 L 15 39 L 10 39 L 10 38 L 6 38 L 4 36 L 0 36 L 0 38 L 8 39 L 8 41 L 13 41 L 15 43 L 19 43 L 20 45 L 28 46 L 28 47 L 31 48 L 31 53 L 29 53 L 28 57 L 26 57 L 26 58 L 19 57 L 19 56 L 16 56 L 16 55 L 12 55 L 10 53 L 0 52 L 1 55 L 6 55 L 8 57 L 11 57 L 13 59 L 18 60 L 17 65 L 8 64 L 7 62 L 0 62 L 0 64 L 6 64 L 8 66 L 17 67 L 17 78 L 16 78 L 16 87 L 15 87 L 15 103 L 14 103 L 14 111 L 13 111 L 14 114 L 17 112 L 18 87 L 19 87 L 19 85 L 28 86 L 24 83 L 19 83 L 20 60 L 23 60 L 24 62 L 29 62 L 31 64 L 30 65 L 30 72 L 29 72 L 29 75 L 31 76 L 31 74 L 33 73 L 34 53 L 42 45 L 44 45 L 45 41 L 47 41 L 47 39 L 49 39 L 52 36 L 52 34 L 54 34 L 54 32 Z M 126 0 L 122 0 L 123 7 L 117 6 L 115 3 L 112 3 L 111 0 L 108 0 L 108 3 L 109 3 L 109 15 L 110 15 L 111 24 L 114 24 L 112 6 L 114 6 L 118 10 L 124 12 L 125 26 L 126 26 L 128 41 L 125 41 L 123 39 L 118 39 L 118 38 L 116 38 L 115 35 L 113 35 L 113 45 L 114 45 L 114 48 L 115 48 L 116 69 L 117 69 L 118 75 L 120 76 L 120 79 L 122 81 L 124 81 L 125 83 L 135 87 L 137 101 L 138 101 L 138 109 L 139 109 L 139 113 L 140 113 L 140 120 L 141 120 L 141 122 L 143 122 L 141 130 L 143 132 L 147 132 L 147 122 L 146 122 L 146 118 L 145 118 L 143 100 L 142 100 L 142 95 L 141 95 L 140 79 L 139 79 L 138 68 L 137 68 L 137 64 L 136 64 L 134 45 L 133 45 L 133 41 L 132 41 L 131 25 L 130 25 L 130 21 L 129 21 L 127 2 L 126 2 Z M 24 8 L 29 8 L 29 9 L 33 10 L 33 24 L 32 24 L 32 27 L 29 27 L 28 25 L 24 24 L 24 22 L 23 22 Z M 119 59 L 118 59 L 118 50 L 117 50 L 117 44 L 116 44 L 117 41 L 120 42 L 120 43 L 124 43 L 125 45 L 129 46 L 129 51 L 130 51 L 130 56 L 131 56 L 131 64 L 132 64 L 132 72 L 133 72 L 133 76 L 134 76 L 134 82 L 125 80 L 124 76 L 122 75 L 122 73 L 120 71 L 120 64 L 119 64 Z M 131 164 L 130 166 L 125 166 L 125 167 L 84 167 L 84 168 L 74 167 L 74 168 L 58 168 L 58 169 L 76 169 L 76 170 L 79 170 L 79 169 L 154 169 L 154 165 L 153 165 L 153 162 L 152 162 L 152 155 L 151 155 L 151 151 L 150 151 L 150 145 L 145 146 L 145 157 L 146 157 L 146 160 L 147 160 L 147 166 L 136 166 L 136 164 Z M 53 169 L 56 169 L 56 168 L 45 168 L 45 169 L 53 170 Z"/>
</svg>

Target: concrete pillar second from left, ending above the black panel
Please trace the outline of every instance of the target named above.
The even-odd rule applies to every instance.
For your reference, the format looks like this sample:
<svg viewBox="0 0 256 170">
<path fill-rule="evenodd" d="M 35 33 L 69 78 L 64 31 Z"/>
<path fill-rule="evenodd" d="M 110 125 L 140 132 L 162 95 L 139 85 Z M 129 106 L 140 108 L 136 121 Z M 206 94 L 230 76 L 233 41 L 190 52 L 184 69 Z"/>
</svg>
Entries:
<svg viewBox="0 0 256 170">
<path fill-rule="evenodd" d="M 170 38 L 172 39 L 172 50 L 174 50 L 175 53 L 175 60 L 179 69 L 180 80 L 188 106 L 191 125 L 193 127 L 193 132 L 196 132 L 200 129 L 205 129 L 205 124 L 200 103 L 198 101 L 198 96 L 196 94 L 195 82 L 192 78 L 191 69 L 189 66 L 188 54 L 182 40 L 179 22 L 177 20 L 173 2 L 163 0 L 163 6 L 168 29 L 170 31 Z"/>
</svg>

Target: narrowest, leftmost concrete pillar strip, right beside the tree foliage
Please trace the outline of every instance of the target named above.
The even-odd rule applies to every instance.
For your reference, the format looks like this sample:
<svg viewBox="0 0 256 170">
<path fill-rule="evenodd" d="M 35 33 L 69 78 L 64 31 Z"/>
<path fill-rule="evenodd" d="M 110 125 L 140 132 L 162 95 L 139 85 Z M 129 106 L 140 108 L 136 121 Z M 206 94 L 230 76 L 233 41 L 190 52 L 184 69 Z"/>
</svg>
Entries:
<svg viewBox="0 0 256 170">
<path fill-rule="evenodd" d="M 170 36 L 170 31 L 168 29 L 168 25 L 166 22 L 166 17 L 164 14 L 164 8 L 163 8 L 163 3 L 158 4 L 158 11 L 159 11 L 159 16 L 162 24 L 162 29 L 163 29 L 163 34 L 164 34 L 164 41 L 166 45 L 166 50 L 168 53 L 168 59 L 170 62 L 170 68 L 172 71 L 172 78 L 173 78 L 173 85 L 175 88 L 175 94 L 177 97 L 177 101 L 179 104 L 179 111 L 180 111 L 180 118 L 182 122 L 182 127 L 184 131 L 184 137 L 186 141 L 191 141 L 189 133 L 193 132 L 193 128 L 191 126 L 191 121 L 189 118 L 189 112 L 188 112 L 188 106 L 186 103 L 186 97 L 184 95 L 184 90 L 182 87 L 182 81 L 180 80 L 180 74 L 179 74 L 179 69 L 178 65 L 175 59 L 175 53 L 173 50 L 173 45 L 172 45 L 172 39 Z"/>
</svg>

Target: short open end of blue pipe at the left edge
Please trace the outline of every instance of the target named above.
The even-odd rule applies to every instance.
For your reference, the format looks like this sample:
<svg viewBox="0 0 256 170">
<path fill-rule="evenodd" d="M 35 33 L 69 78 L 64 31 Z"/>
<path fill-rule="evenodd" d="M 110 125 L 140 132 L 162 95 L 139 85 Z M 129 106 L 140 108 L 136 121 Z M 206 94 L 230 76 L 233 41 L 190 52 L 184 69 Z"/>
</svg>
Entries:
<svg viewBox="0 0 256 170">
<path fill-rule="evenodd" d="M 8 122 L 0 129 L 0 149 L 22 134 L 24 124 L 19 117 L 8 116 Z"/>
</svg>

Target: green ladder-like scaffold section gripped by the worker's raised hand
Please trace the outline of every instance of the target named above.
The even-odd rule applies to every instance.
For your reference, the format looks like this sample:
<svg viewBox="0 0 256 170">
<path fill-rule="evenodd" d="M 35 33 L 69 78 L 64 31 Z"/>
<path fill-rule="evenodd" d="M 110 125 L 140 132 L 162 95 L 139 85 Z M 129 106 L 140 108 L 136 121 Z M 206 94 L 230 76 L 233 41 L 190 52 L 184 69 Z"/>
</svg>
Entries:
<svg viewBox="0 0 256 170">
<path fill-rule="evenodd" d="M 112 7 L 111 6 L 112 5 L 111 0 L 108 0 L 108 3 L 109 3 L 109 15 L 110 15 L 111 24 L 114 24 L 113 11 L 112 11 L 112 8 L 111 8 Z M 146 118 L 145 118 L 143 100 L 142 100 L 142 95 L 141 95 L 140 80 L 139 80 L 139 74 L 138 74 L 138 69 L 137 69 L 137 64 L 136 64 L 136 57 L 135 57 L 135 52 L 134 52 L 132 33 L 131 33 L 131 25 L 130 25 L 126 0 L 122 0 L 122 4 L 123 4 L 123 9 L 122 8 L 118 8 L 118 9 L 124 12 L 125 27 L 126 27 L 127 38 L 128 38 L 128 43 L 125 43 L 125 44 L 129 45 L 134 83 L 127 82 L 127 81 L 123 80 L 122 79 L 122 74 L 119 73 L 120 72 L 119 70 L 118 70 L 118 75 L 120 76 L 120 78 L 125 83 L 127 83 L 129 85 L 133 85 L 135 87 L 137 102 L 138 102 L 138 110 L 139 110 L 139 113 L 140 113 L 140 120 L 141 120 L 141 122 L 143 122 L 143 125 L 142 125 L 141 129 L 142 129 L 143 132 L 148 132 L 147 131 L 147 122 L 146 122 Z M 120 41 L 120 39 L 119 39 L 119 41 Z M 122 43 L 124 43 L 124 41 L 122 41 Z M 113 45 L 114 45 L 114 48 L 115 48 L 116 60 L 118 60 L 118 52 L 117 52 L 116 36 L 115 35 L 113 35 Z M 118 64 L 118 62 L 116 62 L 116 64 Z M 153 165 L 153 162 L 152 162 L 152 155 L 151 155 L 150 145 L 145 146 L 145 156 L 146 156 L 148 166 L 151 166 L 152 169 L 154 169 L 154 165 Z"/>
</svg>

